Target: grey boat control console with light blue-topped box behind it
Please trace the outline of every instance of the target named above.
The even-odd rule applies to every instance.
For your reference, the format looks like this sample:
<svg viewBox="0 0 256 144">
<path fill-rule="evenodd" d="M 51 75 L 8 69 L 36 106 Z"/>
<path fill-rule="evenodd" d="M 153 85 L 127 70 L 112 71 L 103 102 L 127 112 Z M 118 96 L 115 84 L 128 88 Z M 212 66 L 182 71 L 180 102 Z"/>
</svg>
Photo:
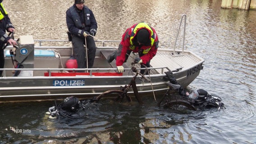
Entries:
<svg viewBox="0 0 256 144">
<path fill-rule="evenodd" d="M 5 68 L 59 68 L 59 55 L 54 50 L 35 49 L 32 36 L 20 36 L 18 46 L 5 49 Z M 11 71 L 6 76 L 13 76 Z M 43 76 L 42 71 L 21 71 L 18 76 Z"/>
</svg>

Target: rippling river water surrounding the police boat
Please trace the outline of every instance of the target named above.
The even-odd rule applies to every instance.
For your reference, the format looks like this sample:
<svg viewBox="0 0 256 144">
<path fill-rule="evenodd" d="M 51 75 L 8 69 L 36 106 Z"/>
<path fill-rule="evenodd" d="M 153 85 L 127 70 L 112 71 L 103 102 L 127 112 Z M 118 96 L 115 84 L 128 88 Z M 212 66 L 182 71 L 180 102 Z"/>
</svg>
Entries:
<svg viewBox="0 0 256 144">
<path fill-rule="evenodd" d="M 65 11 L 73 0 L 3 3 L 15 38 L 67 40 Z M 158 33 L 160 48 L 172 48 L 181 15 L 187 14 L 185 47 L 206 60 L 187 89 L 217 94 L 227 109 L 170 112 L 157 107 L 152 96 L 143 106 L 105 100 L 88 105 L 85 118 L 58 121 L 45 115 L 54 102 L 5 103 L 0 105 L 0 144 L 256 143 L 256 11 L 221 9 L 221 0 L 86 0 L 86 5 L 98 22 L 97 39 L 121 40 L 128 27 L 145 21 Z"/>
</svg>

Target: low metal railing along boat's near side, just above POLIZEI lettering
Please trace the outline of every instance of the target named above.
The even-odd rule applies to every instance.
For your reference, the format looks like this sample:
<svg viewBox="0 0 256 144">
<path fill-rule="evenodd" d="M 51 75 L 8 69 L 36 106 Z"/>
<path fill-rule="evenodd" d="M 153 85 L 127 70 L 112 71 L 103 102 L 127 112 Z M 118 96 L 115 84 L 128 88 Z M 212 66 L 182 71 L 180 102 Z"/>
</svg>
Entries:
<svg viewBox="0 0 256 144">
<path fill-rule="evenodd" d="M 166 71 L 166 69 L 169 71 L 168 67 L 147 67 L 147 68 L 137 68 L 137 70 L 141 70 L 141 69 L 148 69 L 148 70 L 160 70 L 158 71 L 158 73 L 153 73 L 150 75 L 155 75 L 155 74 L 164 74 L 164 72 Z M 133 72 L 131 70 L 131 68 L 124 68 L 125 71 L 125 75 L 123 76 L 133 76 Z M 3 77 L 14 77 L 14 76 L 7 76 L 7 72 L 9 71 L 41 71 L 41 72 L 48 72 L 49 76 L 51 76 L 52 72 L 76 72 L 76 71 L 85 71 L 90 73 L 87 76 L 94 76 L 93 72 L 116 72 L 117 69 L 116 68 L 0 68 L 0 71 L 3 71 Z M 44 76 L 44 75 L 42 75 Z"/>
</svg>

